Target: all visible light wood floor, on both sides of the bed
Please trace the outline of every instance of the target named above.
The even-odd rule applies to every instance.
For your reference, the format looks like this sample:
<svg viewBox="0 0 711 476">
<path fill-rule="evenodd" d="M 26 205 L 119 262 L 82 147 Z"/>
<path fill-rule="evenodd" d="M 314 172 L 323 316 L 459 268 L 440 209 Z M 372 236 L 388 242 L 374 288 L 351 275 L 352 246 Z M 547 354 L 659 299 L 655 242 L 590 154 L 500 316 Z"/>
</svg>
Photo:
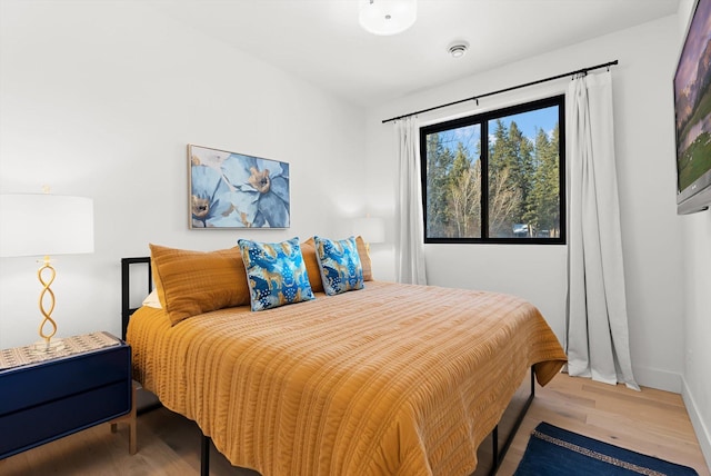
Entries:
<svg viewBox="0 0 711 476">
<path fill-rule="evenodd" d="M 613 445 L 690 466 L 700 476 L 710 476 L 679 395 L 649 388 L 638 393 L 621 385 L 598 384 L 564 374 L 557 376 L 544 388 L 537 387 L 535 391 L 535 399 L 499 475 L 513 474 L 530 433 L 540 422 L 548 422 Z M 100 425 L 0 460 L 0 475 L 199 474 L 200 433 L 192 422 L 179 415 L 164 408 L 141 415 L 138 445 L 138 454 L 130 456 L 128 428 L 121 426 L 118 433 L 112 434 L 108 424 Z M 485 462 L 490 453 L 490 443 L 484 442 L 480 459 Z M 231 467 L 214 449 L 210 474 L 257 475 Z M 485 474 L 483 467 L 477 472 L 479 474 Z"/>
</svg>

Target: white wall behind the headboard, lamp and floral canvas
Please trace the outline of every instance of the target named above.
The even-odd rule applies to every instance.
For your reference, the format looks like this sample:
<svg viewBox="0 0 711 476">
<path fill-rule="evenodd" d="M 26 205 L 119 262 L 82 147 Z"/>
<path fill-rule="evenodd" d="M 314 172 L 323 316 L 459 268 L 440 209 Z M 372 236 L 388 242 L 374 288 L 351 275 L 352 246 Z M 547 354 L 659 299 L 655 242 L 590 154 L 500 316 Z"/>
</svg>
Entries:
<svg viewBox="0 0 711 476">
<path fill-rule="evenodd" d="M 0 22 L 0 192 L 94 200 L 96 252 L 56 262 L 60 336 L 120 334 L 120 258 L 149 241 L 346 236 L 364 212 L 363 110 L 140 2 L 2 0 Z M 290 162 L 291 228 L 188 230 L 187 143 Z M 38 339 L 37 268 L 0 260 L 0 348 Z"/>
</svg>

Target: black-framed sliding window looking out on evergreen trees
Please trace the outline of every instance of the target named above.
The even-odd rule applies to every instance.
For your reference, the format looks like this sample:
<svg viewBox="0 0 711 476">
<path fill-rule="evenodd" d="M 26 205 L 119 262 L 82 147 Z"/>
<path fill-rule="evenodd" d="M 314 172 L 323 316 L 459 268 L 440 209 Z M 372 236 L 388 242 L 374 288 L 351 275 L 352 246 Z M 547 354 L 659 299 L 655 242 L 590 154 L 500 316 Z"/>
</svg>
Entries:
<svg viewBox="0 0 711 476">
<path fill-rule="evenodd" d="M 565 242 L 563 100 L 420 129 L 424 242 Z"/>
</svg>

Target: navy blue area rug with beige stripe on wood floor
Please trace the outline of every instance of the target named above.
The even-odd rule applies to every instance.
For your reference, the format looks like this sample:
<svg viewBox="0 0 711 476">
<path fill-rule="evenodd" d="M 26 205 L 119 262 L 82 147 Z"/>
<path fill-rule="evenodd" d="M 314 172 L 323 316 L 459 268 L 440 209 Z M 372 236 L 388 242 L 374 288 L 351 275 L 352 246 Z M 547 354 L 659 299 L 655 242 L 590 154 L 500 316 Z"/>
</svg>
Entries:
<svg viewBox="0 0 711 476">
<path fill-rule="evenodd" d="M 698 476 L 687 466 L 630 452 L 542 423 L 529 439 L 515 476 Z"/>
</svg>

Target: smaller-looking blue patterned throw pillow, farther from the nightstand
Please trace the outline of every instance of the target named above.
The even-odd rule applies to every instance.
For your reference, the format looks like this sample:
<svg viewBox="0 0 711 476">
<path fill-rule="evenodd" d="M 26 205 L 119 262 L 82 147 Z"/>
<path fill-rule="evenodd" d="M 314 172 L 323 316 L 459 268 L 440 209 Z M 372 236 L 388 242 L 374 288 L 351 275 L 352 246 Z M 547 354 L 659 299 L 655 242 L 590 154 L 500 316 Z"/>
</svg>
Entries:
<svg viewBox="0 0 711 476">
<path fill-rule="evenodd" d="M 313 237 L 323 290 L 329 296 L 363 288 L 363 267 L 356 238 L 340 241 Z"/>
</svg>

